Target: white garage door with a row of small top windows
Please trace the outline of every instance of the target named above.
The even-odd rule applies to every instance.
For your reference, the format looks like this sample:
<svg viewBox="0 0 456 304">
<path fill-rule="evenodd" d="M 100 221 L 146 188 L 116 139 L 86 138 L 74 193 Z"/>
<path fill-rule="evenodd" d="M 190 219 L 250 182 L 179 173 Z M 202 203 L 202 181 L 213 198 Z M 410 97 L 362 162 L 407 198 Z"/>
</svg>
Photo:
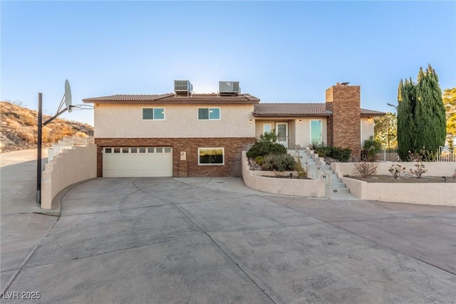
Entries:
<svg viewBox="0 0 456 304">
<path fill-rule="evenodd" d="M 172 148 L 105 147 L 103 177 L 172 177 Z"/>
</svg>

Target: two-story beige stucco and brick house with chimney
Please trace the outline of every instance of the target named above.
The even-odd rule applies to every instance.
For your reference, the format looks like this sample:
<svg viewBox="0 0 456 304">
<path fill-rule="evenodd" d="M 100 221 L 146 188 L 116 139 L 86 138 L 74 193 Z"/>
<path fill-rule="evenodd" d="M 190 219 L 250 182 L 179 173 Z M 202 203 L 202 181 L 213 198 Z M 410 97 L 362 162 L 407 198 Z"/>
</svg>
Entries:
<svg viewBox="0 0 456 304">
<path fill-rule="evenodd" d="M 373 135 L 360 108 L 360 87 L 335 85 L 326 103 L 264 103 L 220 82 L 219 93 L 194 94 L 187 80 L 163 95 L 86 98 L 95 106 L 98 177 L 228 177 L 241 173 L 241 152 L 275 130 L 289 148 L 325 142 L 359 156 Z"/>
</svg>

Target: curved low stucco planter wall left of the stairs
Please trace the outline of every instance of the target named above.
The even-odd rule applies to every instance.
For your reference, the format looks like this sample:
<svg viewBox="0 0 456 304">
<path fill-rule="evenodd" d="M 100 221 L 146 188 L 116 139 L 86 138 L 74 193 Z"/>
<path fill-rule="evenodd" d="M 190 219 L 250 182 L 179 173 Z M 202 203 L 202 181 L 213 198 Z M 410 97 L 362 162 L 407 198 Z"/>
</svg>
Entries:
<svg viewBox="0 0 456 304">
<path fill-rule="evenodd" d="M 244 184 L 252 189 L 271 194 L 325 197 L 325 183 L 309 179 L 277 179 L 261 177 L 249 169 L 246 152 L 242 152 L 242 179 Z"/>
</svg>

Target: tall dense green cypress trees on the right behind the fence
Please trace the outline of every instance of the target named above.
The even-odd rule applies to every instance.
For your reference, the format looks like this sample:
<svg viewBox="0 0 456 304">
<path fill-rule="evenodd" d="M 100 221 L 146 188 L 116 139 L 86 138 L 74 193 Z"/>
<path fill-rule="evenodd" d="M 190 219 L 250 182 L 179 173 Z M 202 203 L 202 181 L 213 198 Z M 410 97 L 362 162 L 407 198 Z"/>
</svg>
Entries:
<svg viewBox="0 0 456 304">
<path fill-rule="evenodd" d="M 407 159 L 408 152 L 437 152 L 445 145 L 446 119 L 442 90 L 431 65 L 420 68 L 418 83 L 400 80 L 398 88 L 398 154 Z M 423 155 L 424 156 L 424 155 Z"/>
</svg>

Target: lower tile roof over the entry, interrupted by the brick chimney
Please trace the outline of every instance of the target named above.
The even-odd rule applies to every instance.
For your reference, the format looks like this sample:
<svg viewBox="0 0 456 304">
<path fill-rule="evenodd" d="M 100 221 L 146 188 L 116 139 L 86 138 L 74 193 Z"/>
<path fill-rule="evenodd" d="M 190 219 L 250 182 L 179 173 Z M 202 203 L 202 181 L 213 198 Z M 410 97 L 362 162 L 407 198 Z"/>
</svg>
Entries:
<svg viewBox="0 0 456 304">
<path fill-rule="evenodd" d="M 326 103 L 260 103 L 254 106 L 254 116 L 329 116 Z M 383 116 L 384 112 L 361 109 L 361 116 Z"/>
</svg>

